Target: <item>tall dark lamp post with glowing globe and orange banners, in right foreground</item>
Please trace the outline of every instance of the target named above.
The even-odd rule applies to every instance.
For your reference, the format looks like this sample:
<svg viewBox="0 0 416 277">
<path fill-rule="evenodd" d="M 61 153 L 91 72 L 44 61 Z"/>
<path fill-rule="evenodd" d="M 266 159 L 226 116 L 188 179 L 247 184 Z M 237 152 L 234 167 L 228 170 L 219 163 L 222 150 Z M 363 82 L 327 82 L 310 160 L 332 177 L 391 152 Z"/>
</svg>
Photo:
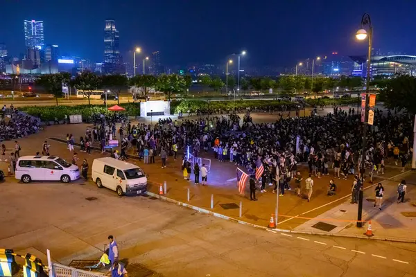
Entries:
<svg viewBox="0 0 416 277">
<path fill-rule="evenodd" d="M 368 32 L 364 29 L 367 26 Z M 368 60 L 367 60 L 367 80 L 365 84 L 365 109 L 361 111 L 361 118 L 364 116 L 363 122 L 363 150 L 361 153 L 361 170 L 365 170 L 365 148 L 367 148 L 367 120 L 368 120 L 368 103 L 370 102 L 370 66 L 371 66 L 371 48 L 372 48 L 372 24 L 370 15 L 365 13 L 361 18 L 361 28 L 356 33 L 356 38 L 363 40 L 367 38 L 368 33 Z M 364 115 L 363 115 L 364 113 Z M 358 217 L 357 217 L 357 227 L 361 228 L 363 222 L 361 222 L 363 217 L 363 184 L 364 184 L 364 175 L 361 175 L 361 186 L 358 196 Z"/>
</svg>

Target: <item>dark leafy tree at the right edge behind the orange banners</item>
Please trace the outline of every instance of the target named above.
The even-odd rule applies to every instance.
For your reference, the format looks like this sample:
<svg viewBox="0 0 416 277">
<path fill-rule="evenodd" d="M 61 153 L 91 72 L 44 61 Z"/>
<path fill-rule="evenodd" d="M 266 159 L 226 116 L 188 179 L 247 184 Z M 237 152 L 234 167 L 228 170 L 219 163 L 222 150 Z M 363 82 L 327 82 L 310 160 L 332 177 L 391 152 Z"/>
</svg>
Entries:
<svg viewBox="0 0 416 277">
<path fill-rule="evenodd" d="M 390 79 L 381 89 L 380 100 L 389 109 L 406 109 L 416 114 L 416 78 L 410 75 L 398 75 Z"/>
</svg>

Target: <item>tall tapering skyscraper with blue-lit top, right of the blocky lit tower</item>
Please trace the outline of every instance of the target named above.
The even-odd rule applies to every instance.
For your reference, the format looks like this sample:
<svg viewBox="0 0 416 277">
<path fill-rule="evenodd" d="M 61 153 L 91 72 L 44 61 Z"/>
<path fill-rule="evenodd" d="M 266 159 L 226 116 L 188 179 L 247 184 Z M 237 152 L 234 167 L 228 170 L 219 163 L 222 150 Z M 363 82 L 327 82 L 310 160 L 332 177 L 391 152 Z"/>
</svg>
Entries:
<svg viewBox="0 0 416 277">
<path fill-rule="evenodd" d="M 113 19 L 105 20 L 103 73 L 123 73 L 123 60 L 120 54 L 120 36 Z"/>
</svg>

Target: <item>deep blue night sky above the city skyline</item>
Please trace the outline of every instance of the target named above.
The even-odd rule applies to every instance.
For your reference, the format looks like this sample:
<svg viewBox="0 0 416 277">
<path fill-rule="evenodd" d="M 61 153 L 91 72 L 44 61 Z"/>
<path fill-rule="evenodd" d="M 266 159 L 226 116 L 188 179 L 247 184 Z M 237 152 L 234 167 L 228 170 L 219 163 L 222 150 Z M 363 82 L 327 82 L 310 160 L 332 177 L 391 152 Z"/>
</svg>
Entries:
<svg viewBox="0 0 416 277">
<path fill-rule="evenodd" d="M 99 62 L 104 20 L 112 18 L 124 56 L 141 46 L 160 51 L 164 64 L 186 65 L 246 50 L 252 65 L 291 66 L 333 51 L 365 54 L 366 43 L 354 39 L 363 12 L 372 18 L 374 48 L 416 54 L 412 0 L 0 0 L 0 10 L 0 42 L 15 56 L 24 53 L 24 19 L 35 19 L 44 21 L 46 44 Z"/>
</svg>

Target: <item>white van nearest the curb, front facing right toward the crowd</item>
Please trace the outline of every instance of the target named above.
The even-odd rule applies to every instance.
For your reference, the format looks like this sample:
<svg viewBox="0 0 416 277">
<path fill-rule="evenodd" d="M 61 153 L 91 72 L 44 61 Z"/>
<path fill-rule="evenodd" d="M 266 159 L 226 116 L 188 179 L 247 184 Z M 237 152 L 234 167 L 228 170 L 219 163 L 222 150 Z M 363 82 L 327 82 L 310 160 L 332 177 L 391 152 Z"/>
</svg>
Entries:
<svg viewBox="0 0 416 277">
<path fill-rule="evenodd" d="M 114 158 L 99 158 L 92 162 L 92 180 L 98 188 L 110 188 L 117 195 L 141 195 L 147 190 L 147 177 L 132 163 Z"/>
</svg>

